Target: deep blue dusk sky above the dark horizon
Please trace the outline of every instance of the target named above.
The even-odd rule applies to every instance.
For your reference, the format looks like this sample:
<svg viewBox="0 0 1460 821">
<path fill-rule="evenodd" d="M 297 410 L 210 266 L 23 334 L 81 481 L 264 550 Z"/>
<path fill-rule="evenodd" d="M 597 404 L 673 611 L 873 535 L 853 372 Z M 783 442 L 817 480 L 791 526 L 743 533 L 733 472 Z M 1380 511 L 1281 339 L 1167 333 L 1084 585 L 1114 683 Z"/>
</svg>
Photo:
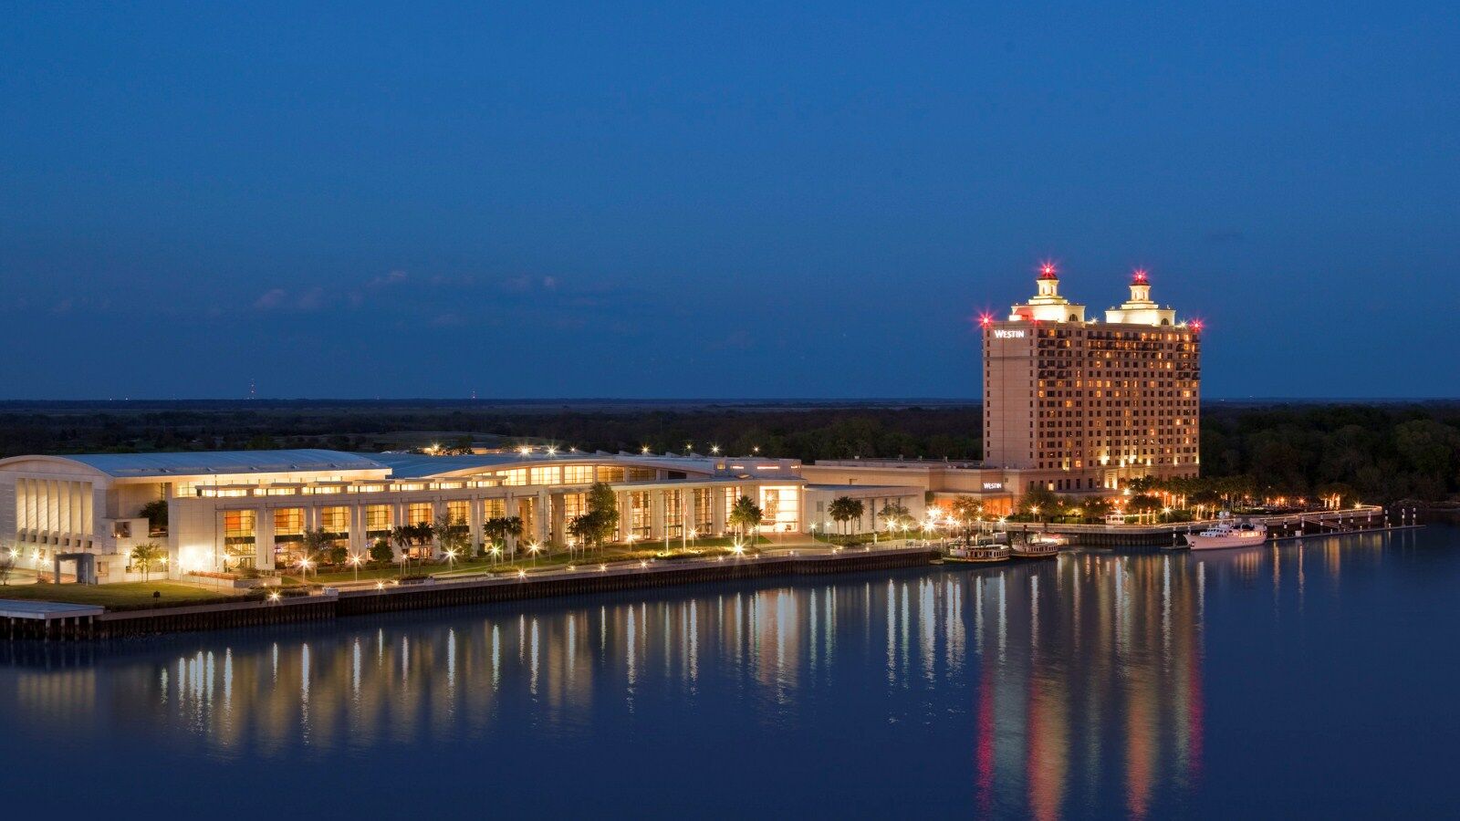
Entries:
<svg viewBox="0 0 1460 821">
<path fill-rule="evenodd" d="M 1450 3 L 6 3 L 0 397 L 1456 396 Z"/>
</svg>

